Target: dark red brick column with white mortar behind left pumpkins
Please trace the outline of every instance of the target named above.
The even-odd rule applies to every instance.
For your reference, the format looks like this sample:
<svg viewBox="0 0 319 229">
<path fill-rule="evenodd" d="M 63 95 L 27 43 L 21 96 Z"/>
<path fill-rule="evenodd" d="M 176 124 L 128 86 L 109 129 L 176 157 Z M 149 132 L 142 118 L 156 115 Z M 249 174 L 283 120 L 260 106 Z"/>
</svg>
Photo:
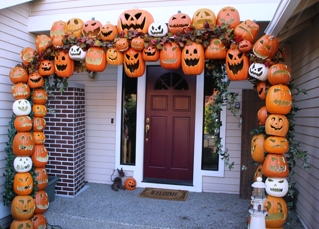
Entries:
<svg viewBox="0 0 319 229">
<path fill-rule="evenodd" d="M 49 152 L 46 166 L 49 176 L 60 177 L 55 193 L 75 196 L 84 187 L 85 162 L 85 86 L 69 83 L 64 93 L 53 92 L 56 99 L 47 107 L 55 114 L 47 114 L 44 145 Z"/>
</svg>

